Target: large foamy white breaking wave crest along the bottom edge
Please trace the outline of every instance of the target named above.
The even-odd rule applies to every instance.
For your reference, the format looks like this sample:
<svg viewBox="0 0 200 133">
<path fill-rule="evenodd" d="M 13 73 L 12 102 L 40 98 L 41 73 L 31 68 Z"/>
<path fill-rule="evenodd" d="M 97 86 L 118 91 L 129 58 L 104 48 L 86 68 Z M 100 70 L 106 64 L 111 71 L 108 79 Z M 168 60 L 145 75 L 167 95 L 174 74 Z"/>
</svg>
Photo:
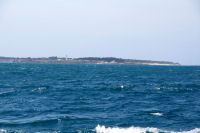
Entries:
<svg viewBox="0 0 200 133">
<path fill-rule="evenodd" d="M 108 127 L 98 125 L 95 128 L 97 133 L 200 133 L 200 128 L 196 128 L 190 131 L 182 131 L 182 132 L 175 132 L 175 131 L 165 131 L 158 128 L 141 128 L 141 127 L 130 127 L 130 128 L 119 128 L 119 127 Z"/>
</svg>

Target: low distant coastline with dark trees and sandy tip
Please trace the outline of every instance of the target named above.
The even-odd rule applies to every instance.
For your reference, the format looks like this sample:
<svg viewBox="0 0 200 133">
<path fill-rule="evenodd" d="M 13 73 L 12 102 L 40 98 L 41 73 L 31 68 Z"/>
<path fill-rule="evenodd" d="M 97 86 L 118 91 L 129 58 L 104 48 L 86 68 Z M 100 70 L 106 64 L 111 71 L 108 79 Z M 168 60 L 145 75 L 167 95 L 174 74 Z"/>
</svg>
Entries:
<svg viewBox="0 0 200 133">
<path fill-rule="evenodd" d="M 59 63 L 59 64 L 125 64 L 125 65 L 156 65 L 156 66 L 180 66 L 179 63 L 169 61 L 134 60 L 114 57 L 83 57 L 83 58 L 64 58 L 64 57 L 41 57 L 41 58 L 17 58 L 0 57 L 0 63 Z"/>
</svg>

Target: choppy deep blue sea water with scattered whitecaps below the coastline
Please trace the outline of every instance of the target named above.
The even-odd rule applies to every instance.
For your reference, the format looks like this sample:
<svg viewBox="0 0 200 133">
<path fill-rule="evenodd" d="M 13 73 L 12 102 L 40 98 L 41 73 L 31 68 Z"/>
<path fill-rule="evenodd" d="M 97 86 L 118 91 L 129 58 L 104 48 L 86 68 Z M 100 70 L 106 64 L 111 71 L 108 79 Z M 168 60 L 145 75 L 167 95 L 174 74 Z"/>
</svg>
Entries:
<svg viewBox="0 0 200 133">
<path fill-rule="evenodd" d="M 200 67 L 0 64 L 0 133 L 200 132 Z"/>
</svg>

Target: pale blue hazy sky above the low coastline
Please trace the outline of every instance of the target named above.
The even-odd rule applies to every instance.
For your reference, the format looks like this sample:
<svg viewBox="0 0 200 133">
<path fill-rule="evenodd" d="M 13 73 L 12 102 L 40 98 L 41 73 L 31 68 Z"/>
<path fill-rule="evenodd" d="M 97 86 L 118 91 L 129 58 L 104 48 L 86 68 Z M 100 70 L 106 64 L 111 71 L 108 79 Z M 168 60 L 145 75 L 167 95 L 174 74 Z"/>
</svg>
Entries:
<svg viewBox="0 0 200 133">
<path fill-rule="evenodd" d="M 0 56 L 200 65 L 199 0 L 0 0 Z"/>
</svg>

